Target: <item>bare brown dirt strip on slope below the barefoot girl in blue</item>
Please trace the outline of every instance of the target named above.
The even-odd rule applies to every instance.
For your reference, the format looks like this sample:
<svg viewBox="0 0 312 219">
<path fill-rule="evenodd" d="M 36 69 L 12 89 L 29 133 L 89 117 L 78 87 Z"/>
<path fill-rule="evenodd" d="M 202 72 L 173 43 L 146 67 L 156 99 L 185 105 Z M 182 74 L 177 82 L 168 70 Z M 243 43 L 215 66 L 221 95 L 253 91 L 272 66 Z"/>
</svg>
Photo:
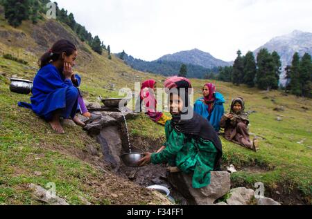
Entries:
<svg viewBox="0 0 312 219">
<path fill-rule="evenodd" d="M 88 164 L 94 166 L 96 169 L 103 171 L 103 175 L 96 177 L 89 177 L 83 180 L 86 185 L 86 190 L 94 194 L 92 196 L 92 203 L 98 204 L 170 204 L 166 199 L 161 197 L 155 198 L 155 194 L 144 187 L 126 180 L 125 178 L 110 173 L 110 167 L 101 159 L 100 153 L 94 155 L 98 151 L 95 147 L 90 149 L 64 148 L 58 145 L 45 144 L 42 142 L 40 146 L 44 148 L 53 149 L 64 155 L 74 156 Z M 93 151 L 93 152 L 92 152 Z M 93 153 L 93 154 L 92 154 Z"/>
</svg>

